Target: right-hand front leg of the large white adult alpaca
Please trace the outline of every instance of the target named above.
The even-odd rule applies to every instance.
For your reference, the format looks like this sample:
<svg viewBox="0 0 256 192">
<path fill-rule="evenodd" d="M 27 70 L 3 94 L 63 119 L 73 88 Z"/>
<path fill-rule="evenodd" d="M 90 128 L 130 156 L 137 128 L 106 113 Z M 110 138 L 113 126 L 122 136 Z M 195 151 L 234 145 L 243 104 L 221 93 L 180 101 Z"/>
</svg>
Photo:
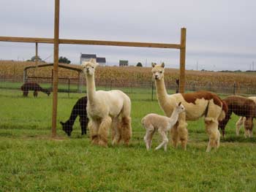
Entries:
<svg viewBox="0 0 256 192">
<path fill-rule="evenodd" d="M 102 118 L 102 122 L 99 124 L 99 145 L 102 145 L 104 147 L 108 146 L 108 131 L 111 126 L 112 119 L 108 116 L 105 118 Z"/>
</svg>

